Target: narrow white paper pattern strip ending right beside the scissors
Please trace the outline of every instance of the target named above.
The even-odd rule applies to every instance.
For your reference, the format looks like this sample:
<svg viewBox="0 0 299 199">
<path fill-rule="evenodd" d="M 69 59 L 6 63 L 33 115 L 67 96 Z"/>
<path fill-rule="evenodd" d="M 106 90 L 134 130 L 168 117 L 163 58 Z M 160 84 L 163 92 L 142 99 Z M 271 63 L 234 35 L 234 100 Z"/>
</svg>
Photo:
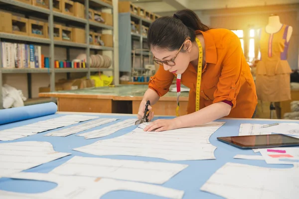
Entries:
<svg viewBox="0 0 299 199">
<path fill-rule="evenodd" d="M 126 119 L 124 121 L 117 122 L 116 124 L 106 126 L 101 129 L 93 130 L 90 132 L 82 133 L 77 136 L 85 137 L 85 139 L 104 137 L 112 133 L 115 133 L 116 131 L 119 131 L 121 129 L 135 125 L 136 120 L 137 119 Z"/>
</svg>

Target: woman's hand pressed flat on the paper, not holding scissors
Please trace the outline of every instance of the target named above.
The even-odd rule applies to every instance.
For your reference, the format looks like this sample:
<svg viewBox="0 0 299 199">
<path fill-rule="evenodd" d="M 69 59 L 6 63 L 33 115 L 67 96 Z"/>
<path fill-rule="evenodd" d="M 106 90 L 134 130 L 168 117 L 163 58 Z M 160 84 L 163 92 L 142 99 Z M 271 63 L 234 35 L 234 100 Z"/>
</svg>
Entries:
<svg viewBox="0 0 299 199">
<path fill-rule="evenodd" d="M 157 119 L 147 125 L 144 131 L 152 131 L 155 129 L 155 132 L 159 132 L 176 128 L 178 128 L 177 121 L 174 121 L 174 119 Z"/>
</svg>

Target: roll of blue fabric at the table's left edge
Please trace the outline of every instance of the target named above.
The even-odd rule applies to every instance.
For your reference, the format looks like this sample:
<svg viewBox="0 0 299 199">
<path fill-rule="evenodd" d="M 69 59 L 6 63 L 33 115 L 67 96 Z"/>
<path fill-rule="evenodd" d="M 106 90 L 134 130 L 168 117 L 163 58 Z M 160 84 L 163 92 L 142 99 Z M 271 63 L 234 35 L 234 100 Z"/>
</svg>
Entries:
<svg viewBox="0 0 299 199">
<path fill-rule="evenodd" d="M 0 125 L 54 114 L 56 111 L 57 105 L 54 102 L 0 109 Z"/>
</svg>

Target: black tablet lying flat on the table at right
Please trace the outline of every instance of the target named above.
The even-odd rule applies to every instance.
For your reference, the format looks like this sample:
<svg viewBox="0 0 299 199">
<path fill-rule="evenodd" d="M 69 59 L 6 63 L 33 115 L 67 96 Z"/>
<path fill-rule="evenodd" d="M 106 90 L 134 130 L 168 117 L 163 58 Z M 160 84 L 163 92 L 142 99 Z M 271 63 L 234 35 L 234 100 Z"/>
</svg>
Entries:
<svg viewBox="0 0 299 199">
<path fill-rule="evenodd" d="M 229 136 L 217 139 L 242 149 L 299 146 L 299 138 L 284 134 Z"/>
</svg>

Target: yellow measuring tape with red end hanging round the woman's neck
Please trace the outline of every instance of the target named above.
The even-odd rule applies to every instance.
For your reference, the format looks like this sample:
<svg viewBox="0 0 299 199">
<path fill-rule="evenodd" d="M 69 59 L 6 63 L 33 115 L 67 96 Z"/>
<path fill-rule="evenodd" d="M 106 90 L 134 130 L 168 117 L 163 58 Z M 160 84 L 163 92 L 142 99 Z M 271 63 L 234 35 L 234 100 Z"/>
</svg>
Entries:
<svg viewBox="0 0 299 199">
<path fill-rule="evenodd" d="M 196 101 L 195 101 L 195 110 L 199 110 L 199 102 L 200 102 L 200 85 L 201 85 L 201 72 L 202 72 L 202 59 L 203 59 L 203 53 L 202 53 L 202 46 L 199 41 L 195 37 L 195 41 L 198 45 L 198 65 L 197 65 L 197 79 L 196 79 Z M 181 74 L 177 75 L 176 77 L 176 94 L 177 94 L 177 99 L 176 99 L 176 109 L 175 113 L 176 116 L 179 116 L 179 96 L 180 96 L 180 79 L 181 79 Z"/>
</svg>

